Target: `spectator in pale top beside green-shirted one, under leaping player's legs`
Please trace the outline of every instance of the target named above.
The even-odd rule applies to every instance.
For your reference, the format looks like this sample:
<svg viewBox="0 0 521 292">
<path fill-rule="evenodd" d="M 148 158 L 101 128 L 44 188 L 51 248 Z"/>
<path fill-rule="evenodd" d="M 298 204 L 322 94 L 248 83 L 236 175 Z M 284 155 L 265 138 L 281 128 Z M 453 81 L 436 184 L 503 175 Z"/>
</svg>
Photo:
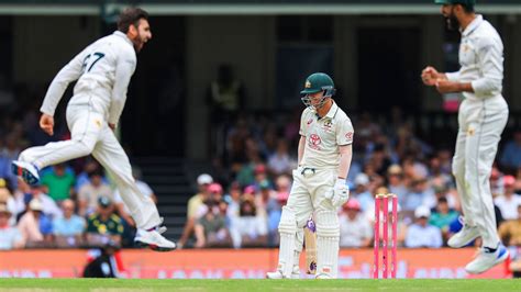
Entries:
<svg viewBox="0 0 521 292">
<path fill-rule="evenodd" d="M 98 168 L 88 173 L 89 181 L 78 191 L 78 213 L 81 216 L 89 216 L 98 207 L 98 199 L 107 196 L 114 199 L 112 189 L 103 182 L 103 171 Z"/>
</svg>

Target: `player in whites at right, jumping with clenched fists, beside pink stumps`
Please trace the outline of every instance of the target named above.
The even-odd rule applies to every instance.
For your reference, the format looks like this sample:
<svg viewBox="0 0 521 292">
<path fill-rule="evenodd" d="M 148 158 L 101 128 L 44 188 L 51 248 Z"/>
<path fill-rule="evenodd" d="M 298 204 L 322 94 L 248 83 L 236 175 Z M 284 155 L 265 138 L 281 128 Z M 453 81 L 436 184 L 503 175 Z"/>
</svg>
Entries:
<svg viewBox="0 0 521 292">
<path fill-rule="evenodd" d="M 508 250 L 496 231 L 489 177 L 498 143 L 508 120 L 508 105 L 501 96 L 503 45 L 492 25 L 474 12 L 475 0 L 435 0 L 450 29 L 462 33 L 459 71 L 442 74 L 433 67 L 422 71 L 422 80 L 442 94 L 462 92 L 465 100 L 458 113 L 459 130 L 453 158 L 465 224 L 448 239 L 448 246 L 466 246 L 483 239 L 479 255 L 466 267 L 481 273 L 505 261 Z"/>
</svg>

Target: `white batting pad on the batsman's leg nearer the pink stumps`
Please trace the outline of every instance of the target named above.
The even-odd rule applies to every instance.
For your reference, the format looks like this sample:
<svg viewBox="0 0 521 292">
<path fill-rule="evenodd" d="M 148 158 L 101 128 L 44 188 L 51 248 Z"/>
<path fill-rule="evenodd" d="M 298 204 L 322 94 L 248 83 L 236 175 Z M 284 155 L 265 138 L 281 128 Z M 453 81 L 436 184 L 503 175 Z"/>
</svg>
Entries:
<svg viewBox="0 0 521 292">
<path fill-rule="evenodd" d="M 336 212 L 317 213 L 317 276 L 336 279 L 339 270 L 340 223 Z"/>
</svg>

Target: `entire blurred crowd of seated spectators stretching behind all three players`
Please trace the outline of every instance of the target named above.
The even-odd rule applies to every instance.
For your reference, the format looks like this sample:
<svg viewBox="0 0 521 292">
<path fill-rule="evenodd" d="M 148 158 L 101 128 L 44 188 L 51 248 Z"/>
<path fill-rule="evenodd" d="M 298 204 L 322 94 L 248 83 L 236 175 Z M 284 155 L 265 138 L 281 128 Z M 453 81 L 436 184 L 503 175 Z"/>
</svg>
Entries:
<svg viewBox="0 0 521 292">
<path fill-rule="evenodd" d="M 132 246 L 134 222 L 110 177 L 92 158 L 44 169 L 38 186 L 26 186 L 11 175 L 10 164 L 22 149 L 67 138 L 68 132 L 58 123 L 55 136 L 45 136 L 37 125 L 37 104 L 27 102 L 38 99 L 27 96 L 14 103 L 9 97 L 8 90 L 0 90 L 0 249 L 80 247 L 109 240 Z M 297 168 L 301 106 L 284 114 L 244 114 L 240 106 L 228 108 L 212 113 L 213 158 L 209 173 L 195 178 L 198 190 L 188 201 L 179 245 L 278 246 L 281 206 L 290 193 L 291 171 Z M 217 103 L 215 109 L 220 109 Z M 398 195 L 399 246 L 445 246 L 462 227 L 451 175 L 455 133 L 420 135 L 422 120 L 410 119 L 399 109 L 391 109 L 388 116 L 350 116 L 355 143 L 346 180 L 351 199 L 339 210 L 341 246 L 373 245 L 377 193 Z M 156 200 L 135 170 L 142 192 Z M 520 246 L 521 131 L 503 135 L 490 188 L 502 240 Z"/>
</svg>

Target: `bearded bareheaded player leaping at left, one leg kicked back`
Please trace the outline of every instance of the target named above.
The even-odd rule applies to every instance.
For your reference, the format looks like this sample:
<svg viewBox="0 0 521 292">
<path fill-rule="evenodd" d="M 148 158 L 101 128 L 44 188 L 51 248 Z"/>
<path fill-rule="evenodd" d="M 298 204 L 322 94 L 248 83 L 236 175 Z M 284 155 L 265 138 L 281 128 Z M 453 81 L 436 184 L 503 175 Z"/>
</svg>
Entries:
<svg viewBox="0 0 521 292">
<path fill-rule="evenodd" d="M 176 244 L 160 235 L 165 231 L 159 227 L 163 220 L 154 202 L 137 189 L 129 157 L 113 133 L 125 104 L 136 53 L 152 38 L 147 19 L 148 14 L 142 9 L 125 9 L 120 14 L 117 32 L 89 45 L 58 72 L 40 109 L 40 127 L 53 135 L 56 106 L 67 86 L 78 80 L 66 113 L 71 139 L 25 149 L 19 160 L 13 161 L 12 170 L 34 184 L 40 180 L 40 169 L 92 154 L 114 178 L 136 222 L 135 242 L 166 251 L 175 249 Z"/>
</svg>

